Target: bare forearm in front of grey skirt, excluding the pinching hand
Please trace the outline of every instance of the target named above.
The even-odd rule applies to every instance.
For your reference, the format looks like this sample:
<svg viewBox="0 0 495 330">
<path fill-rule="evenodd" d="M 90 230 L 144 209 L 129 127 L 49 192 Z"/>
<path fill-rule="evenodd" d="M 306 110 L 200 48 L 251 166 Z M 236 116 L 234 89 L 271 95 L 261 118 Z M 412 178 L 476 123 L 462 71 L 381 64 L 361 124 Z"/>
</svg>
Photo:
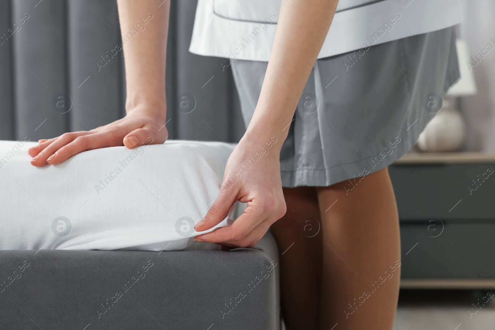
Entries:
<svg viewBox="0 0 495 330">
<path fill-rule="evenodd" d="M 268 135 L 286 139 L 287 126 L 328 33 L 337 2 L 282 1 L 275 42 L 247 139 Z"/>
</svg>

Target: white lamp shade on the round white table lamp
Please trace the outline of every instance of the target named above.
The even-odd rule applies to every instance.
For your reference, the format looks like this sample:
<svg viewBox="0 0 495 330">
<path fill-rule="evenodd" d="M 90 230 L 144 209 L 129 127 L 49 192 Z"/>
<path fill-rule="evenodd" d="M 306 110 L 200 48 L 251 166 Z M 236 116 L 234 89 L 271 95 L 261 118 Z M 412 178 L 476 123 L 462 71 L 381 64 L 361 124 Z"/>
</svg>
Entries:
<svg viewBox="0 0 495 330">
<path fill-rule="evenodd" d="M 467 62 L 471 62 L 467 43 L 462 39 L 457 39 L 455 41 L 455 47 L 457 48 L 457 59 L 459 61 L 461 77 L 450 86 L 447 96 L 474 95 L 478 90 L 476 89 L 473 70 L 467 65 Z"/>
</svg>

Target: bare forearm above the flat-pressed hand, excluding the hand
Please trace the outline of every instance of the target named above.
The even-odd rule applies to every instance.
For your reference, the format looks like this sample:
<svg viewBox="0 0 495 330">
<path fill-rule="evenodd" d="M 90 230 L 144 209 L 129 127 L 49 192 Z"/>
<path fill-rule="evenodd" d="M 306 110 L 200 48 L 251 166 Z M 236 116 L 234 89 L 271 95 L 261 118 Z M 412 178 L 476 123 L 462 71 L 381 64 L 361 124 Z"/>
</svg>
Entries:
<svg viewBox="0 0 495 330">
<path fill-rule="evenodd" d="M 126 111 L 146 108 L 164 118 L 170 0 L 117 0 L 117 3 L 125 58 Z"/>
</svg>

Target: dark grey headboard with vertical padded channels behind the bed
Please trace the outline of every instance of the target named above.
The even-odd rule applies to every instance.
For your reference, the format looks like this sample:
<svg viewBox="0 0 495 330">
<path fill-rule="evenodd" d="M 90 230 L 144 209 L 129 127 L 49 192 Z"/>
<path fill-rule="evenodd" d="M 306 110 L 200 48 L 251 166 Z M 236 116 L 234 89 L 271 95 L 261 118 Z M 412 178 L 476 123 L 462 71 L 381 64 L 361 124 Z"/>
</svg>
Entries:
<svg viewBox="0 0 495 330">
<path fill-rule="evenodd" d="M 239 141 L 245 129 L 230 67 L 188 51 L 196 4 L 171 3 L 167 129 L 171 139 Z M 123 117 L 122 44 L 115 0 L 1 0 L 0 140 L 37 141 Z M 179 107 L 184 93 L 193 95 L 190 113 Z"/>
</svg>

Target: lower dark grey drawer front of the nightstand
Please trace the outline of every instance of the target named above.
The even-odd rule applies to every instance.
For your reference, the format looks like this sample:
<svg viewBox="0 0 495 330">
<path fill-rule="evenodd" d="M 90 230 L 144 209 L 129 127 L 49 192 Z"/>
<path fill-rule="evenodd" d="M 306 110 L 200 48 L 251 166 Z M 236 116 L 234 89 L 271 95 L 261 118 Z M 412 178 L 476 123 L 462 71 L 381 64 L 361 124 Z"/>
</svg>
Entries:
<svg viewBox="0 0 495 330">
<path fill-rule="evenodd" d="M 400 223 L 401 277 L 495 279 L 495 222 Z"/>
</svg>

